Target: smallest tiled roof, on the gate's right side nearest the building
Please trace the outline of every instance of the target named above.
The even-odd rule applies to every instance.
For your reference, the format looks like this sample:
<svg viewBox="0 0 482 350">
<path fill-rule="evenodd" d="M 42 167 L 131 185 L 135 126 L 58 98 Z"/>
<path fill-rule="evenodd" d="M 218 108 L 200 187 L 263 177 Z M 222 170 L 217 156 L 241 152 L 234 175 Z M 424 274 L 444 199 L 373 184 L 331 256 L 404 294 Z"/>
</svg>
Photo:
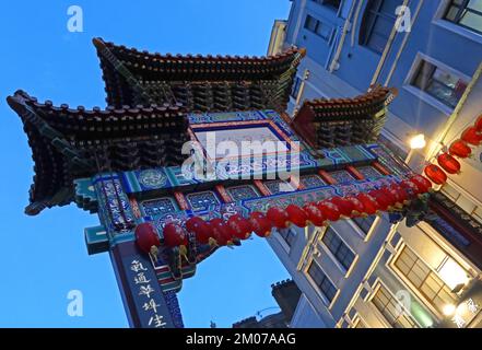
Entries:
<svg viewBox="0 0 482 350">
<path fill-rule="evenodd" d="M 292 127 L 316 149 L 375 142 L 395 89 L 372 86 L 354 98 L 305 101 Z"/>
</svg>

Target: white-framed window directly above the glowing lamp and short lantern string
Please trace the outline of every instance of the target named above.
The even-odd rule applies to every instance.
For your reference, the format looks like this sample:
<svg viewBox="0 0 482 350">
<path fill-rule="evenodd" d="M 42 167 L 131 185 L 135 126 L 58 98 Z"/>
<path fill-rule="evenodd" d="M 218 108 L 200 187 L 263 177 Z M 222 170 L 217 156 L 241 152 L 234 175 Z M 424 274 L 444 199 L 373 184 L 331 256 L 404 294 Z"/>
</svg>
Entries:
<svg viewBox="0 0 482 350">
<path fill-rule="evenodd" d="M 455 108 L 467 89 L 467 82 L 437 66 L 422 60 L 411 82 L 448 107 Z"/>
</svg>

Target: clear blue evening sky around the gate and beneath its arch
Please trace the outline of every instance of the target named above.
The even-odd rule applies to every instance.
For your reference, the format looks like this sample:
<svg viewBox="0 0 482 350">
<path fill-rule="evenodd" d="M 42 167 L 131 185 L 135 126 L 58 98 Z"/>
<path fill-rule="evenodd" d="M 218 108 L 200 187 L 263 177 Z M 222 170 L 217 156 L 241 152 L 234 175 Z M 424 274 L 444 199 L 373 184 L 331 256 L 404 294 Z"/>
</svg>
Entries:
<svg viewBox="0 0 482 350">
<path fill-rule="evenodd" d="M 70 5 L 84 32 L 67 30 Z M 38 217 L 23 213 L 33 162 L 5 97 L 17 89 L 40 101 L 105 106 L 92 37 L 160 52 L 264 55 L 287 0 L 14 1 L 0 11 L 0 327 L 126 327 L 106 254 L 89 256 L 83 229 L 98 223 L 74 205 Z M 185 324 L 221 327 L 274 306 L 272 282 L 287 278 L 268 244 L 223 248 L 198 267 L 179 294 Z M 84 316 L 67 314 L 70 290 Z"/>
</svg>

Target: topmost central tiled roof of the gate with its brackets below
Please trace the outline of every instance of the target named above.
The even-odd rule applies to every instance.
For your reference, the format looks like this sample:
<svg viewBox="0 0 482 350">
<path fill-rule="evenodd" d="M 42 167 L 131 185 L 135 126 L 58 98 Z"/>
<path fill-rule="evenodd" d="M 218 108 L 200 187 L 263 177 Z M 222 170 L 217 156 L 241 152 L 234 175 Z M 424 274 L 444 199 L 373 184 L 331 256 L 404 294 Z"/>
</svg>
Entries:
<svg viewBox="0 0 482 350">
<path fill-rule="evenodd" d="M 303 49 L 271 57 L 161 55 L 95 38 L 114 106 L 179 102 L 191 112 L 284 110 Z"/>
</svg>

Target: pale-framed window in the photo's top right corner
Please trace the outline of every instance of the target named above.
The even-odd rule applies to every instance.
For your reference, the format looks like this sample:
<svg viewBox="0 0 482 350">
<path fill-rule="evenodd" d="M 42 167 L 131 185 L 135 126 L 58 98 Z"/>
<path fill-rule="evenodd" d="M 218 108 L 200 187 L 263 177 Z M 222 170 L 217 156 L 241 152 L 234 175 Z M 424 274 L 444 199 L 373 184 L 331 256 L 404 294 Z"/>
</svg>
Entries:
<svg viewBox="0 0 482 350">
<path fill-rule="evenodd" d="M 482 1 L 452 0 L 444 19 L 482 34 Z"/>
</svg>

